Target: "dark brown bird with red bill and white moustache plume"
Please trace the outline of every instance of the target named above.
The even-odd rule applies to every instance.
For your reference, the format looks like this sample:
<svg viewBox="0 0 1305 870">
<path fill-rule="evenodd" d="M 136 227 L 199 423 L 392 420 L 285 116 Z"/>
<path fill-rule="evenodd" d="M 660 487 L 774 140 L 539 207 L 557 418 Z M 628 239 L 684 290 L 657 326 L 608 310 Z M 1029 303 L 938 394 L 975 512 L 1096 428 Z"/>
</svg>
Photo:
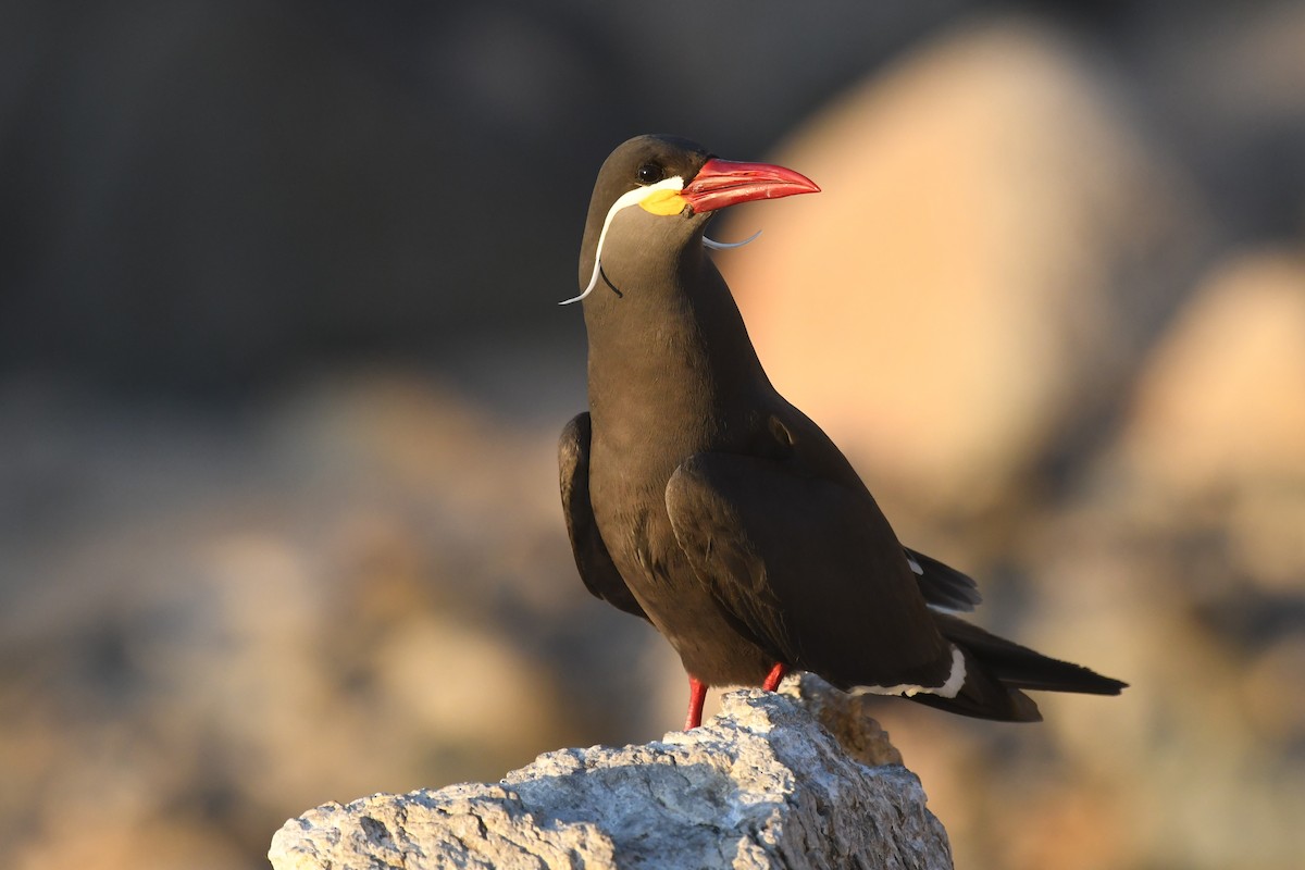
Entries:
<svg viewBox="0 0 1305 870">
<path fill-rule="evenodd" d="M 1026 690 L 1120 694 L 963 620 L 975 580 L 900 544 L 839 447 L 771 385 L 710 256 L 727 245 L 705 230 L 722 209 L 818 192 L 675 136 L 604 160 L 565 300 L 582 305 L 589 353 L 589 411 L 559 442 L 581 579 L 679 653 L 686 729 L 709 687 L 774 691 L 800 670 L 1000 721 L 1041 719 Z"/>
</svg>

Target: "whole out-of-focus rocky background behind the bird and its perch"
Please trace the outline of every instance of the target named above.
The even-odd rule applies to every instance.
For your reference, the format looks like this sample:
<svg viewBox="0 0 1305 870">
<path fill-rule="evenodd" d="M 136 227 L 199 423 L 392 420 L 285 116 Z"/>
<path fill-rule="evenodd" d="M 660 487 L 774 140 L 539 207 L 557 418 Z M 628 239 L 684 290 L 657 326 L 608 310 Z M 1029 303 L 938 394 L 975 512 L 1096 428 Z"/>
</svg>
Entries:
<svg viewBox="0 0 1305 870">
<path fill-rule="evenodd" d="M 555 443 L 641 132 L 823 193 L 718 256 L 977 621 L 1128 680 L 885 700 L 960 867 L 1305 854 L 1305 4 L 0 5 L 0 865 L 683 721 Z"/>
</svg>

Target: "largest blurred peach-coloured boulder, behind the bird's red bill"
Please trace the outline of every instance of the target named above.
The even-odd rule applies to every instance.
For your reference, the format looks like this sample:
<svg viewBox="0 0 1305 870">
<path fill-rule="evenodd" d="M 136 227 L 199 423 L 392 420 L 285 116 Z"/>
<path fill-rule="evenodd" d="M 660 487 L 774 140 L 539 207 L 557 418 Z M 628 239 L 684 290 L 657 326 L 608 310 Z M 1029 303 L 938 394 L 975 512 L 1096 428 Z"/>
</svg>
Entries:
<svg viewBox="0 0 1305 870">
<path fill-rule="evenodd" d="M 979 511 L 1103 413 L 1194 263 L 1199 209 L 1062 33 L 927 44 L 779 153 L 822 193 L 731 215 L 771 378 L 885 487 Z"/>
</svg>

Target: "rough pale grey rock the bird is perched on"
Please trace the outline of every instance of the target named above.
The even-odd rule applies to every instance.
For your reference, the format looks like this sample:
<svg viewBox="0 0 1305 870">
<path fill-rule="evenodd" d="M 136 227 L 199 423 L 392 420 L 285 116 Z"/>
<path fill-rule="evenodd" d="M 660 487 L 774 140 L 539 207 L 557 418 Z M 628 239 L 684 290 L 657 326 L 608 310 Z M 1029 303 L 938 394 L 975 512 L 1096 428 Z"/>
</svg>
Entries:
<svg viewBox="0 0 1305 870">
<path fill-rule="evenodd" d="M 697 730 L 548 753 L 499 785 L 328 803 L 287 822 L 269 858 L 277 870 L 950 867 L 915 775 L 853 760 L 799 703 L 844 725 L 856 706 L 818 681 L 788 694 L 733 693 Z M 867 733 L 863 757 L 899 760 L 877 725 Z"/>
</svg>

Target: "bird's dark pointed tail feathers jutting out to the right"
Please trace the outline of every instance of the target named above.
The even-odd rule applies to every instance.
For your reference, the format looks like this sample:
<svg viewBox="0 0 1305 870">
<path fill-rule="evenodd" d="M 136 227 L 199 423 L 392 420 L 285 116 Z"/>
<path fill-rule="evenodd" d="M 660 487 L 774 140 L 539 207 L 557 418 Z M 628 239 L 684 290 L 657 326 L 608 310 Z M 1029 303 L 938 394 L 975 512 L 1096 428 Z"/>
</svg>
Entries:
<svg viewBox="0 0 1305 870">
<path fill-rule="evenodd" d="M 966 680 L 954 698 L 917 694 L 912 700 L 963 716 L 1039 721 L 1037 704 L 1022 689 L 1117 695 L 1126 682 L 1103 677 L 998 638 L 947 613 L 934 613 L 938 630 L 966 656 Z"/>
</svg>

